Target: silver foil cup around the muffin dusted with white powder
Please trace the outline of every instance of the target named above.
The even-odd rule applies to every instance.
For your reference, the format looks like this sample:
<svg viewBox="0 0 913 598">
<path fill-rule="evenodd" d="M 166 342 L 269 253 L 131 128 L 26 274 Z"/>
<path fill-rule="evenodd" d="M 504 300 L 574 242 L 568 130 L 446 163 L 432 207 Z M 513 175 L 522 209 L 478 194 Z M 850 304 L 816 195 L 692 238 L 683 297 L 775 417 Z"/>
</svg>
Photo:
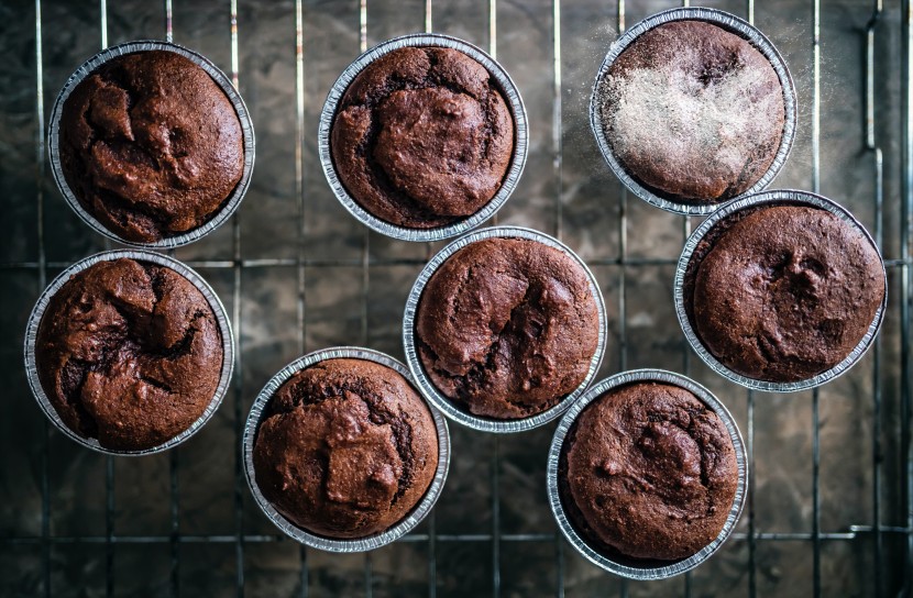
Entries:
<svg viewBox="0 0 913 598">
<path fill-rule="evenodd" d="M 773 47 L 773 44 L 770 43 L 760 31 L 755 29 L 751 24 L 747 21 L 743 21 L 738 16 L 734 14 L 729 14 L 728 12 L 724 12 L 722 10 L 716 9 L 706 9 L 706 8 L 678 8 L 678 9 L 670 9 L 662 12 L 658 12 L 653 15 L 648 16 L 644 21 L 640 21 L 631 29 L 627 30 L 618 40 L 616 40 L 612 46 L 609 46 L 608 54 L 606 54 L 605 59 L 603 60 L 602 66 L 600 67 L 600 73 L 596 75 L 596 81 L 593 84 L 593 96 L 590 99 L 590 126 L 593 130 L 593 134 L 596 136 L 596 142 L 600 145 L 600 151 L 603 154 L 606 163 L 615 173 L 622 182 L 625 184 L 625 187 L 630 189 L 637 197 L 642 199 L 644 201 L 656 206 L 657 208 L 661 208 L 669 212 L 674 212 L 678 214 L 689 214 L 689 215 L 704 215 L 713 212 L 719 206 L 725 202 L 715 202 L 715 203 L 685 203 L 679 202 L 673 199 L 664 198 L 660 195 L 657 195 L 651 189 L 645 187 L 640 182 L 638 182 L 635 178 L 632 178 L 628 173 L 625 170 L 624 166 L 618 162 L 615 157 L 615 154 L 612 151 L 612 145 L 608 143 L 608 140 L 605 137 L 605 132 L 603 128 L 603 118 L 600 111 L 598 106 L 598 87 L 600 82 L 603 78 L 608 74 L 608 69 L 612 67 L 612 64 L 615 59 L 625 51 L 637 37 L 642 35 L 644 33 L 648 32 L 651 29 L 654 29 L 659 25 L 669 23 L 671 21 L 706 21 L 708 23 L 713 23 L 718 25 L 740 37 L 749 41 L 751 45 L 754 45 L 758 51 L 765 55 L 765 57 L 770 60 L 773 70 L 777 71 L 777 76 L 780 78 L 780 85 L 783 88 L 783 103 L 785 106 L 785 123 L 783 125 L 783 136 L 780 140 L 780 147 L 777 151 L 777 154 L 773 157 L 773 162 L 768 168 L 767 173 L 758 179 L 758 181 L 752 185 L 749 189 L 747 189 L 744 193 L 738 197 L 743 197 L 749 193 L 754 193 L 765 189 L 777 174 L 782 168 L 783 164 L 787 162 L 787 156 L 790 153 L 790 148 L 792 147 L 793 140 L 795 139 L 795 126 L 796 126 L 796 98 L 795 98 L 795 86 L 792 81 L 792 76 L 790 75 L 789 69 L 787 68 L 787 63 L 783 60 L 783 57 Z"/>
</svg>

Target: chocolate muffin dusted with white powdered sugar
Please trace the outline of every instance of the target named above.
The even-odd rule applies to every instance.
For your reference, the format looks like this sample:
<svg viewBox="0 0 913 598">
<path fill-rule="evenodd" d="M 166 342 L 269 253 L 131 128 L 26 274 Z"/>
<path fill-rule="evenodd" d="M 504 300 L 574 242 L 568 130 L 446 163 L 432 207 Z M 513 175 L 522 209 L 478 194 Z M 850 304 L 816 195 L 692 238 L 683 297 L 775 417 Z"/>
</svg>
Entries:
<svg viewBox="0 0 913 598">
<path fill-rule="evenodd" d="M 770 60 L 704 21 L 673 21 L 637 37 L 600 81 L 597 101 L 628 175 L 683 203 L 748 190 L 773 163 L 785 122 Z"/>
</svg>

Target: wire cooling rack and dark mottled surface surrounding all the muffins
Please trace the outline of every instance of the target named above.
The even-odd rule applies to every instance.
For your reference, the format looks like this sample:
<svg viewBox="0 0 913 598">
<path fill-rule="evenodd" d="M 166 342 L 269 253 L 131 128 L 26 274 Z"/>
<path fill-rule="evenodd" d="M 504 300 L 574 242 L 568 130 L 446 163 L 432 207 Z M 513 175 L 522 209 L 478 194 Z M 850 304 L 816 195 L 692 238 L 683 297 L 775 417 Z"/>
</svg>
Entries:
<svg viewBox="0 0 913 598">
<path fill-rule="evenodd" d="M 719 0 L 784 54 L 799 134 L 774 187 L 849 207 L 883 250 L 886 324 L 849 374 L 820 390 L 746 391 L 694 359 L 672 307 L 693 220 L 632 198 L 588 130 L 613 40 L 673 0 L 6 0 L 0 3 L 0 594 L 3 596 L 734 596 L 911 593 L 909 0 Z M 363 49 L 435 31 L 486 48 L 530 120 L 526 173 L 499 222 L 557 235 L 606 297 L 600 377 L 690 374 L 733 411 L 750 494 L 735 535 L 694 572 L 626 583 L 590 565 L 546 500 L 553 425 L 495 436 L 452 425 L 443 495 L 405 539 L 331 555 L 280 536 L 245 487 L 240 438 L 256 391 L 306 351 L 363 344 L 402 358 L 403 304 L 440 246 L 391 241 L 344 213 L 317 157 L 337 75 Z M 254 119 L 253 184 L 230 225 L 173 252 L 220 294 L 238 341 L 231 395 L 194 439 L 131 459 L 81 450 L 30 396 L 28 313 L 64 267 L 109 245 L 65 206 L 45 126 L 69 74 L 101 47 L 174 40 L 230 73 Z"/>
</svg>

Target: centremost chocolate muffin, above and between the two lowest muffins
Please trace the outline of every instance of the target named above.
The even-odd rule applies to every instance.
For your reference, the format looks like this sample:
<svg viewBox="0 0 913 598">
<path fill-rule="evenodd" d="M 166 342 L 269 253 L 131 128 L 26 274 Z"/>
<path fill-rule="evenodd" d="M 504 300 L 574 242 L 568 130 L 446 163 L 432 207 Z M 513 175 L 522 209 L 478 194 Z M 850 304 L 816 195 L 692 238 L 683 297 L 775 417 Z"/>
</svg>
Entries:
<svg viewBox="0 0 913 598">
<path fill-rule="evenodd" d="M 580 386 L 598 330 L 584 269 L 526 239 L 484 239 L 458 251 L 416 308 L 428 378 L 470 413 L 498 420 L 541 413 Z"/>
</svg>

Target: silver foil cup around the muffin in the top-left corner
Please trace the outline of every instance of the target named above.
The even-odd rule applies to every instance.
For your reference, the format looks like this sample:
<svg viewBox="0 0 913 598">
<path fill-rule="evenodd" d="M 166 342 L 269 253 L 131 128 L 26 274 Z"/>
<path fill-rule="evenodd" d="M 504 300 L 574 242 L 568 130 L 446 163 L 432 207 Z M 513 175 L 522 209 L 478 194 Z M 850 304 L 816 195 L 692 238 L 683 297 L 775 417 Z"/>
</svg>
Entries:
<svg viewBox="0 0 913 598">
<path fill-rule="evenodd" d="M 82 81 L 82 79 L 91 75 L 98 67 L 112 58 L 123 56 L 125 54 L 135 54 L 138 52 L 148 51 L 164 51 L 179 54 L 199 65 L 199 67 L 202 68 L 213 81 L 216 81 L 216 85 L 219 86 L 226 97 L 228 97 L 231 104 L 234 107 L 238 120 L 241 123 L 241 134 L 244 141 L 244 169 L 241 173 L 241 180 L 238 181 L 234 190 L 232 190 L 228 199 L 226 199 L 222 203 L 222 207 L 219 208 L 215 215 L 201 226 L 175 236 L 160 239 L 158 241 L 154 241 L 152 243 L 141 243 L 138 241 L 122 239 L 114 232 L 108 230 L 101 222 L 98 221 L 98 219 L 89 213 L 81 203 L 79 203 L 79 200 L 76 198 L 73 189 L 70 189 L 69 185 L 67 185 L 66 177 L 64 177 L 63 166 L 61 165 L 59 131 L 64 102 L 66 102 L 69 95 L 76 86 Z M 241 99 L 238 90 L 233 85 L 231 85 L 231 79 L 229 79 L 226 74 L 219 69 L 219 67 L 212 64 L 211 60 L 177 44 L 148 40 L 128 42 L 108 47 L 82 63 L 82 65 L 69 76 L 69 79 L 67 79 L 67 82 L 64 84 L 64 88 L 57 96 L 57 101 L 54 102 L 54 108 L 51 111 L 51 124 L 47 129 L 47 148 L 51 156 L 51 171 L 54 173 L 54 181 L 57 184 L 57 188 L 61 189 L 61 193 L 63 193 L 64 199 L 66 199 L 66 202 L 73 211 L 76 212 L 76 214 L 81 218 L 82 221 L 92 230 L 112 241 L 117 241 L 118 243 L 129 245 L 131 247 L 169 250 L 193 243 L 194 241 L 197 241 L 198 239 L 201 239 L 215 231 L 221 226 L 231 217 L 231 214 L 234 213 L 238 206 L 241 204 L 241 200 L 244 198 L 244 193 L 248 192 L 248 187 L 251 185 L 251 174 L 254 168 L 254 128 L 251 122 L 251 114 L 248 112 L 248 107 L 244 106 L 244 100 Z"/>
</svg>

